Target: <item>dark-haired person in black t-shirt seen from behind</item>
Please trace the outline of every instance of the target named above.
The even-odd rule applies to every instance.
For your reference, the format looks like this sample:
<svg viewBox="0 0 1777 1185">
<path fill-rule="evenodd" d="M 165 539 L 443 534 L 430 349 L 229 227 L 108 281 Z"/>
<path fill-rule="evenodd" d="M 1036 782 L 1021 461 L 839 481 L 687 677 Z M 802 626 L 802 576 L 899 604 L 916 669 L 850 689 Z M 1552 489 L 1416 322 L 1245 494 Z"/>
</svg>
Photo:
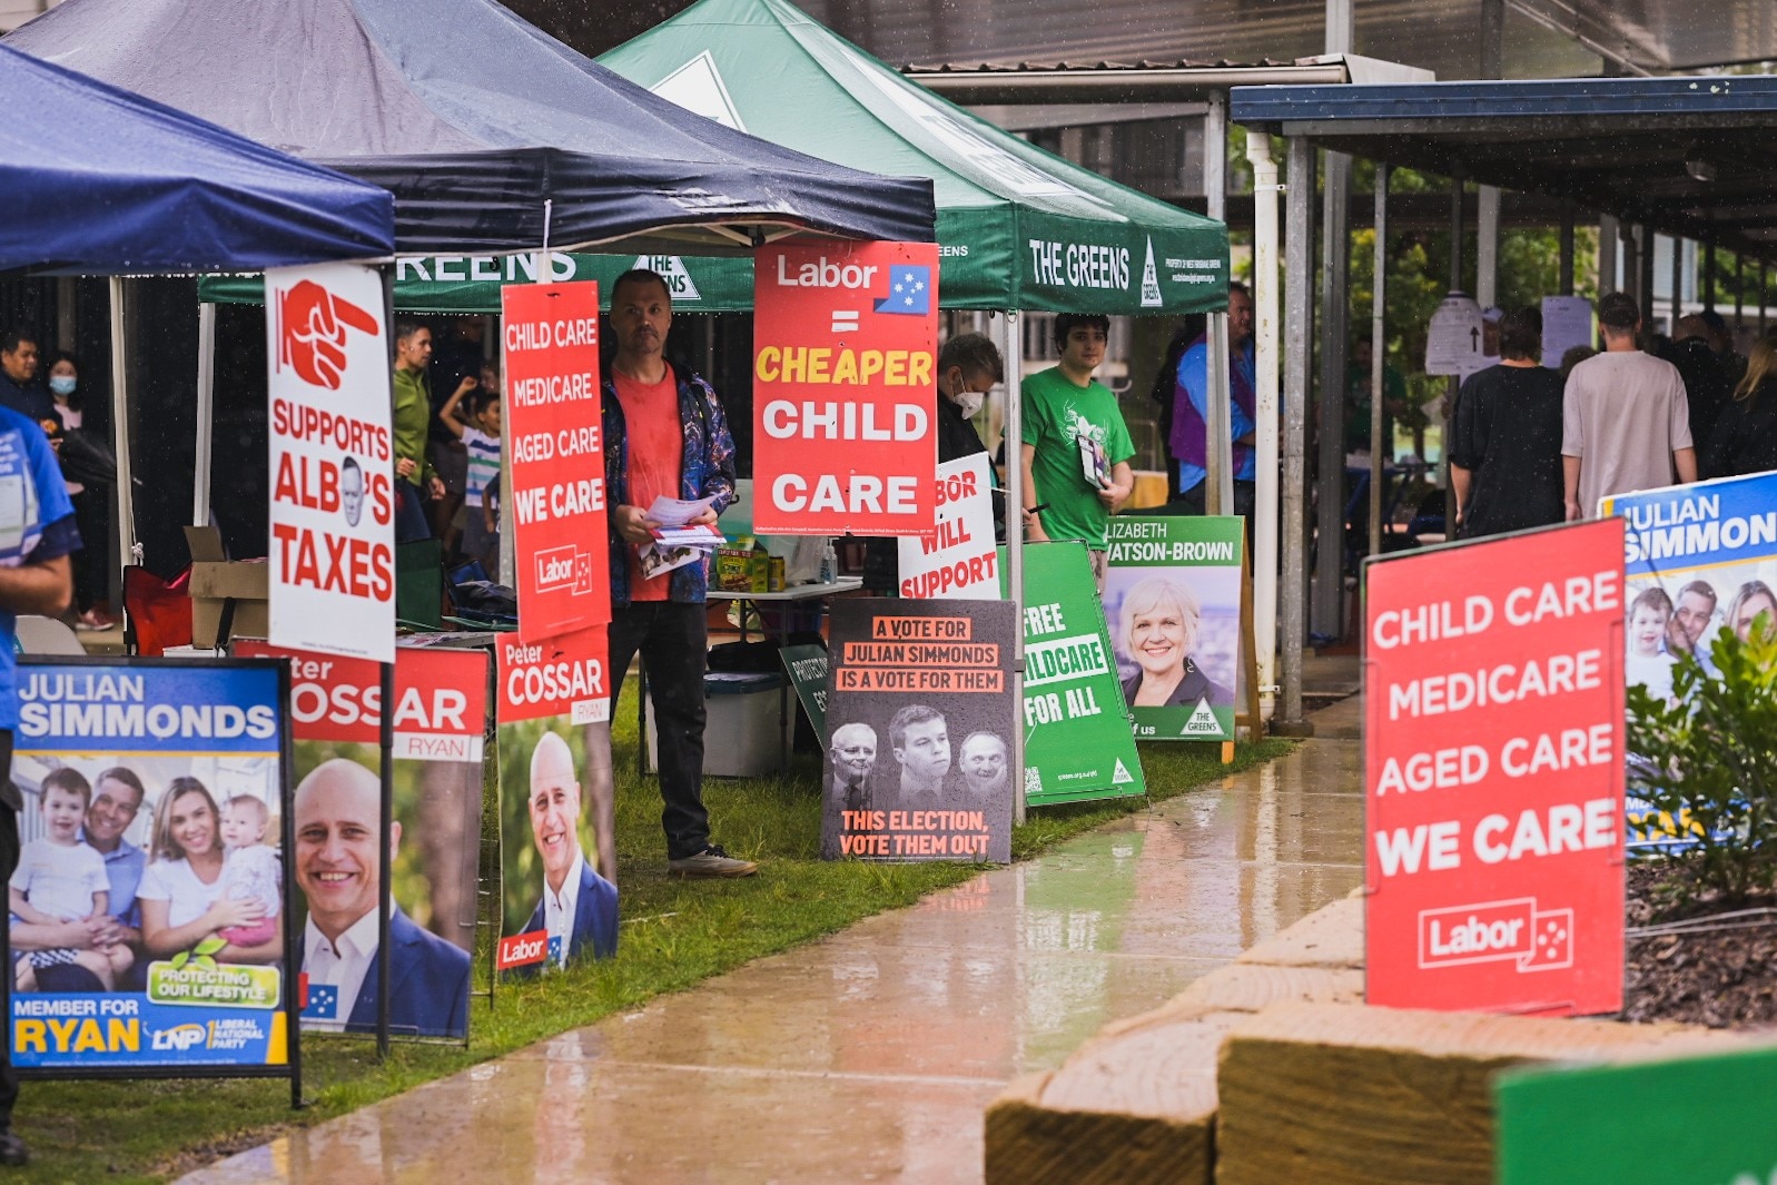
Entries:
<svg viewBox="0 0 1777 1185">
<path fill-rule="evenodd" d="M 1500 364 L 1462 382 L 1450 433 L 1450 483 L 1462 538 L 1562 521 L 1562 380 L 1537 364 L 1542 314 L 1500 322 Z"/>
</svg>

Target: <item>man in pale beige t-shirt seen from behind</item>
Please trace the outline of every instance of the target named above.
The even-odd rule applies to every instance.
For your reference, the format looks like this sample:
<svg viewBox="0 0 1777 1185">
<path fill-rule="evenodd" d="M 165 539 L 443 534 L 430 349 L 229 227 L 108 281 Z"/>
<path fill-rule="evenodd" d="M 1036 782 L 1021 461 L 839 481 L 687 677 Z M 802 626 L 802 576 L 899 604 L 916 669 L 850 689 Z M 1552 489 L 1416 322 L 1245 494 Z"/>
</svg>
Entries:
<svg viewBox="0 0 1777 1185">
<path fill-rule="evenodd" d="M 1562 499 L 1569 521 L 1598 513 L 1598 499 L 1697 480 L 1685 380 L 1672 362 L 1635 345 L 1635 297 L 1598 302 L 1605 352 L 1573 368 L 1562 396 Z"/>
</svg>

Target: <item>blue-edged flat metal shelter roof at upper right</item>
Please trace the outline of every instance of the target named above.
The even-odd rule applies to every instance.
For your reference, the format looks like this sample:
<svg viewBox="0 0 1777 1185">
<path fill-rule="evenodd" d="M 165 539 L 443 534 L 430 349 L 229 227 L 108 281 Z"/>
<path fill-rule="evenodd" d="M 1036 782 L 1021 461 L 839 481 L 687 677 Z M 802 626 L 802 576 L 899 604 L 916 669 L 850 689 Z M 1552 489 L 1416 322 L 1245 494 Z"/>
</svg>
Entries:
<svg viewBox="0 0 1777 1185">
<path fill-rule="evenodd" d="M 1777 76 L 1235 87 L 1230 119 L 1777 256 Z"/>
</svg>

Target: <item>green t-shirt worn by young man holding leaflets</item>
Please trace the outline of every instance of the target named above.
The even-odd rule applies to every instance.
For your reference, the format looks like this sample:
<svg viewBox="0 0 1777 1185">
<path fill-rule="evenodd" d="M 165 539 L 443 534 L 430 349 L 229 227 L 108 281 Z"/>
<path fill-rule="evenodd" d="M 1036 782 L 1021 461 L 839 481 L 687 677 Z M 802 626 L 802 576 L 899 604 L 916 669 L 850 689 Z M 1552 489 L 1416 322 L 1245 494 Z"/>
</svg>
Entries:
<svg viewBox="0 0 1777 1185">
<path fill-rule="evenodd" d="M 1111 512 L 1086 480 L 1080 437 L 1104 446 L 1107 465 L 1136 455 L 1116 396 L 1098 382 L 1075 387 L 1059 366 L 1025 378 L 1024 442 L 1036 449 L 1031 478 L 1038 505 L 1048 506 L 1038 515 L 1043 531 L 1050 538 L 1084 538 L 1093 551 L 1104 551 Z"/>
</svg>

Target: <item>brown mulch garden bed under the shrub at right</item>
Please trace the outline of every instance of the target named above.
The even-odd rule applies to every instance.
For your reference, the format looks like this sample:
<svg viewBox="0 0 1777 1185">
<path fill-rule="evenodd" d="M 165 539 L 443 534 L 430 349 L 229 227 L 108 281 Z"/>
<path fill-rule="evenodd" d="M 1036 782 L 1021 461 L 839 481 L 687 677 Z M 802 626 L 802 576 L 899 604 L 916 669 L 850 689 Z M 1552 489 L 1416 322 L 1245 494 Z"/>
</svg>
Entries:
<svg viewBox="0 0 1777 1185">
<path fill-rule="evenodd" d="M 1777 1027 L 1777 895 L 1674 906 L 1683 876 L 1665 862 L 1630 865 L 1622 1018 L 1711 1029 Z"/>
</svg>

